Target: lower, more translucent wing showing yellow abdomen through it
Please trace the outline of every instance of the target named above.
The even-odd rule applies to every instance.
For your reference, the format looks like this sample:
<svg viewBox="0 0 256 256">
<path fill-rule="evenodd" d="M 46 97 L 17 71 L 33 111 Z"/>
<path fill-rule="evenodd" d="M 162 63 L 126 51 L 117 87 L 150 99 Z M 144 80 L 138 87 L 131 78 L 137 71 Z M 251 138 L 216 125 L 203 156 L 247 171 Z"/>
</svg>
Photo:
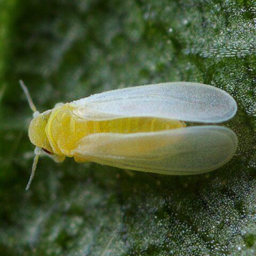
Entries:
<svg viewBox="0 0 256 256">
<path fill-rule="evenodd" d="M 84 137 L 74 156 L 91 162 L 145 172 L 198 174 L 227 163 L 236 134 L 220 126 L 190 126 L 149 133 L 96 133 Z"/>
</svg>

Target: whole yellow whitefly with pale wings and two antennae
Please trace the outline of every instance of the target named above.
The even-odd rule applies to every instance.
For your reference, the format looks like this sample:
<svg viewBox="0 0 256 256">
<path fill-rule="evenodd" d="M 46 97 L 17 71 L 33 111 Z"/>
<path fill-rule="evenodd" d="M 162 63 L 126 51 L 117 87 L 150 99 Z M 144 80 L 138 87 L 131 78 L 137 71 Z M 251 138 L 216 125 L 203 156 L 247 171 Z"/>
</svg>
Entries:
<svg viewBox="0 0 256 256">
<path fill-rule="evenodd" d="M 74 157 L 76 162 L 185 175 L 217 169 L 237 148 L 235 132 L 212 125 L 232 118 L 236 101 L 210 85 L 128 87 L 60 103 L 41 114 L 22 81 L 21 86 L 34 111 L 28 135 L 36 149 L 27 189 L 42 150 L 56 162 Z"/>
</svg>

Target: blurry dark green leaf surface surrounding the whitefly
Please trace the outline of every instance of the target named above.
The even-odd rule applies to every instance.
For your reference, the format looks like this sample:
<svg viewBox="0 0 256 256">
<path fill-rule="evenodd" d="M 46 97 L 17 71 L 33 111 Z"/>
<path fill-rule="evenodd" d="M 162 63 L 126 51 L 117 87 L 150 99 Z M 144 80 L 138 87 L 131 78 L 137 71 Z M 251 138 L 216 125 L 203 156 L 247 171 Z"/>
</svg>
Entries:
<svg viewBox="0 0 256 256">
<path fill-rule="evenodd" d="M 0 0 L 1 255 L 255 255 L 256 2 Z M 31 110 L 158 82 L 217 86 L 235 157 L 196 176 L 39 159 Z"/>
</svg>

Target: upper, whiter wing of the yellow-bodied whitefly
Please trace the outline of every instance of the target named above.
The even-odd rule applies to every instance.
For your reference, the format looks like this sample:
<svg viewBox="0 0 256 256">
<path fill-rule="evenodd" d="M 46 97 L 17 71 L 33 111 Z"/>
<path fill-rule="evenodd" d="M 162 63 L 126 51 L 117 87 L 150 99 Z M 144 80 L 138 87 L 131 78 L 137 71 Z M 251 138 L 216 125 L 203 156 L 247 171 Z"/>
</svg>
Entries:
<svg viewBox="0 0 256 256">
<path fill-rule="evenodd" d="M 173 82 L 91 95 L 73 101 L 74 114 L 90 120 L 158 117 L 199 123 L 220 123 L 233 117 L 236 101 L 214 86 Z"/>
</svg>

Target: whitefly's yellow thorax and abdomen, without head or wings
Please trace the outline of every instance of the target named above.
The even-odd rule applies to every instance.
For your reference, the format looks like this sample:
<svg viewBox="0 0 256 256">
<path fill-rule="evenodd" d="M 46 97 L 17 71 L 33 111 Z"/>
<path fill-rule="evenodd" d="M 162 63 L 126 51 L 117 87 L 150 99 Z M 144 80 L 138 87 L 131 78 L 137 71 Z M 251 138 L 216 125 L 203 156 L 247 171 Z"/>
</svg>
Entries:
<svg viewBox="0 0 256 256">
<path fill-rule="evenodd" d="M 46 125 L 46 134 L 54 153 L 73 157 L 79 140 L 93 133 L 156 132 L 185 127 L 180 121 L 150 117 L 90 121 L 73 114 L 68 105 L 54 109 Z"/>
</svg>

